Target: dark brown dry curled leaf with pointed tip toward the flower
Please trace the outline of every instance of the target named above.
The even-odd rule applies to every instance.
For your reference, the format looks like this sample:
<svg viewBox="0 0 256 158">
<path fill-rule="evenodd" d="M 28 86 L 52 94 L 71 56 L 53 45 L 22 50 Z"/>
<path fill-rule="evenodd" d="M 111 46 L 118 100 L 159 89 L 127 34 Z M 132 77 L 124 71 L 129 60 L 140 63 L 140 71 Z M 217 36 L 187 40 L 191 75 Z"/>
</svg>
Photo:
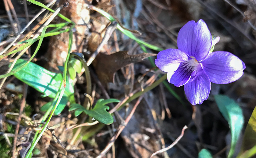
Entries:
<svg viewBox="0 0 256 158">
<path fill-rule="evenodd" d="M 155 55 L 157 54 L 142 53 L 128 55 L 127 51 L 120 51 L 110 55 L 99 53 L 93 61 L 93 66 L 99 80 L 106 86 L 107 83 L 114 82 L 114 74 L 120 68 L 128 66 L 131 63 L 141 62 L 142 60 Z"/>
</svg>

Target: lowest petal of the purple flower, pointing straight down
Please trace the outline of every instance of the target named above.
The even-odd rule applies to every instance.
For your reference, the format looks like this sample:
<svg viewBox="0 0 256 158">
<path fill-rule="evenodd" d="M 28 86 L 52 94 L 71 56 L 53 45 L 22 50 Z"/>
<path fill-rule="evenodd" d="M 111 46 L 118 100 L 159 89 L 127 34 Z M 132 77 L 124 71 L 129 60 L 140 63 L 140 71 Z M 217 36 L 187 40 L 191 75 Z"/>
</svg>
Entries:
<svg viewBox="0 0 256 158">
<path fill-rule="evenodd" d="M 202 104 L 208 98 L 210 90 L 210 79 L 200 66 L 196 75 L 184 85 L 185 94 L 192 105 Z"/>
</svg>

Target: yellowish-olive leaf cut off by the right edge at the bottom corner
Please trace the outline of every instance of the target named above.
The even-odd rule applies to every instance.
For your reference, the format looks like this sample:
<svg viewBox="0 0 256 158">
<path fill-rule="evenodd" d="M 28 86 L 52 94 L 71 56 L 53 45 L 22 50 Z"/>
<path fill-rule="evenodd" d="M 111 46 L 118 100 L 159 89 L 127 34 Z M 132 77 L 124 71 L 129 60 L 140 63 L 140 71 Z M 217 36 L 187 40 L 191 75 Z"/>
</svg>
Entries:
<svg viewBox="0 0 256 158">
<path fill-rule="evenodd" d="M 242 147 L 238 157 L 252 157 L 256 154 L 256 107 L 254 108 L 244 132 Z"/>
</svg>

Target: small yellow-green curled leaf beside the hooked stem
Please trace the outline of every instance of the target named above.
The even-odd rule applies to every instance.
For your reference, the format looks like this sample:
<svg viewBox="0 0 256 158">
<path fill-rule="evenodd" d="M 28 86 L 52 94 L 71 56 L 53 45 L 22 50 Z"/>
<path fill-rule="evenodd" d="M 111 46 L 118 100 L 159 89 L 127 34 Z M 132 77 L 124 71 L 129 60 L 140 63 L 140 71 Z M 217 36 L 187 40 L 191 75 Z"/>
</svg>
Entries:
<svg viewBox="0 0 256 158">
<path fill-rule="evenodd" d="M 68 73 L 72 80 L 76 78 L 76 72 L 80 73 L 82 71 L 83 65 L 80 60 L 71 58 L 68 61 Z"/>
</svg>

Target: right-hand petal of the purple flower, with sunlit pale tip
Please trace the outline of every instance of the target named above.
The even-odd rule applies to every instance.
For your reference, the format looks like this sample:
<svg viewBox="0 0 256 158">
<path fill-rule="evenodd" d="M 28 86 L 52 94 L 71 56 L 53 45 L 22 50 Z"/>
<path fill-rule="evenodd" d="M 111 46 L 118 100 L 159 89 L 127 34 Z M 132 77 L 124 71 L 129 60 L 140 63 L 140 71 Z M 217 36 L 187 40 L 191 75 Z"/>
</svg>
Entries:
<svg viewBox="0 0 256 158">
<path fill-rule="evenodd" d="M 201 63 L 211 82 L 217 84 L 238 80 L 245 69 L 244 62 L 230 52 L 212 52 Z"/>
</svg>

